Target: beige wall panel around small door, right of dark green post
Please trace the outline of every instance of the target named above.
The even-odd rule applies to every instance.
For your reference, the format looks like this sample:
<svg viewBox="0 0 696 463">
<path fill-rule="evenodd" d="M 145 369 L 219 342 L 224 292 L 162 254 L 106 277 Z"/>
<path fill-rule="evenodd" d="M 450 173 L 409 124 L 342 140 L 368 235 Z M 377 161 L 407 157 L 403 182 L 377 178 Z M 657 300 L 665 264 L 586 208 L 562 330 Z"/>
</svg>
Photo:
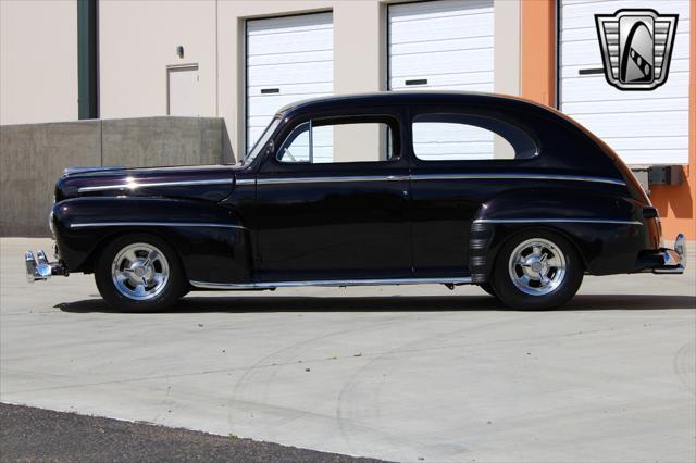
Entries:
<svg viewBox="0 0 696 463">
<path fill-rule="evenodd" d="M 211 0 L 99 1 L 101 118 L 166 115 L 166 67 L 187 63 L 198 63 L 200 115 L 215 116 L 215 8 Z"/>
</svg>

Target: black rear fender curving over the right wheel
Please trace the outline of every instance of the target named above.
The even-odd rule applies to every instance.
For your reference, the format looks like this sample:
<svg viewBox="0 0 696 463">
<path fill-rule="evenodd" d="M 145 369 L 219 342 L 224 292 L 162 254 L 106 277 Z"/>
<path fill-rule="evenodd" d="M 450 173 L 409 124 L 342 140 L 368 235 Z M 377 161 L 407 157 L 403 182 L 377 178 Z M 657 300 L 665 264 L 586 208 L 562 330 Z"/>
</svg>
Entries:
<svg viewBox="0 0 696 463">
<path fill-rule="evenodd" d="M 530 228 L 567 238 L 591 274 L 632 272 L 641 251 L 659 248 L 659 229 L 655 220 L 643 217 L 645 204 L 612 191 L 614 188 L 534 188 L 485 201 L 472 222 L 472 279 L 487 280 L 505 242 Z"/>
</svg>

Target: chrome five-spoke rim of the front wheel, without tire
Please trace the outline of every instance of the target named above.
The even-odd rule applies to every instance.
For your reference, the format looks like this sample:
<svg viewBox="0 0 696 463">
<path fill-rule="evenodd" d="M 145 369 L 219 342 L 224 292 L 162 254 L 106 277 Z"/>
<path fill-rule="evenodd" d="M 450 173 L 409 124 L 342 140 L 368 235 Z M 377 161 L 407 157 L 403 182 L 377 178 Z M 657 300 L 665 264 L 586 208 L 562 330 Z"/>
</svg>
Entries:
<svg viewBox="0 0 696 463">
<path fill-rule="evenodd" d="M 162 251 L 145 242 L 123 248 L 111 265 L 116 290 L 136 301 L 157 297 L 166 286 L 169 276 L 170 266 Z"/>
</svg>

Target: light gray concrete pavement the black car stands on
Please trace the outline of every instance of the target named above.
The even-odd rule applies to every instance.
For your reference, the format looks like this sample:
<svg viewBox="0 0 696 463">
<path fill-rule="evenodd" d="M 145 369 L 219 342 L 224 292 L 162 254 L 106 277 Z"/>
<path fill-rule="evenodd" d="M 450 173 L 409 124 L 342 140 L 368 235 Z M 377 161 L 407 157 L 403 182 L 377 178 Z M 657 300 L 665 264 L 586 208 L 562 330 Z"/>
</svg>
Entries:
<svg viewBox="0 0 696 463">
<path fill-rule="evenodd" d="M 563 310 L 476 287 L 195 293 L 114 313 L 0 240 L 0 400 L 401 461 L 693 462 L 696 276 L 587 277 Z"/>
</svg>

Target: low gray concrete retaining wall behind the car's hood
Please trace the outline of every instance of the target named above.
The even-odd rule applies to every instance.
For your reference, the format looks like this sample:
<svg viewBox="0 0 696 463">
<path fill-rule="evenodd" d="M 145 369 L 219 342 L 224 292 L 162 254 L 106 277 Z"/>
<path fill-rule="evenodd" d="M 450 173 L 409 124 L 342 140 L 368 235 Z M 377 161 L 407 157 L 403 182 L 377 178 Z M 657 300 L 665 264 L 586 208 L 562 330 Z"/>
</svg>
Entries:
<svg viewBox="0 0 696 463">
<path fill-rule="evenodd" d="M 53 188 L 65 167 L 232 162 L 225 138 L 224 121 L 212 117 L 0 126 L 0 236 L 49 235 Z"/>
</svg>

